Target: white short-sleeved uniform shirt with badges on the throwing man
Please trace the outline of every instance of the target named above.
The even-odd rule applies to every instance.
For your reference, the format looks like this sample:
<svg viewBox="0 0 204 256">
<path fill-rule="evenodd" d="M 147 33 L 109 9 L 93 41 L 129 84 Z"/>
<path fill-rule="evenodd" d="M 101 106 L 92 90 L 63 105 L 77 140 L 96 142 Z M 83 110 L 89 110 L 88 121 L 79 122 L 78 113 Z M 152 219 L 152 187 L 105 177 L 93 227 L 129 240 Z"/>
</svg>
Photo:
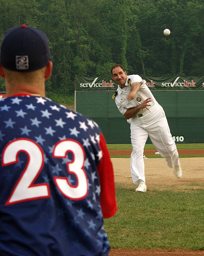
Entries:
<svg viewBox="0 0 204 256">
<path fill-rule="evenodd" d="M 128 84 L 129 79 L 131 80 L 130 85 Z M 123 115 L 129 108 L 136 107 L 137 105 L 144 102 L 144 100 L 147 98 L 151 98 L 151 102 L 148 103 L 150 105 L 150 107 L 149 107 L 150 111 L 154 105 L 159 105 L 158 102 L 156 101 L 156 99 L 154 98 L 153 94 L 151 93 L 150 89 L 147 87 L 146 83 L 141 84 L 139 91 L 136 93 L 136 96 L 134 97 L 134 99 L 130 100 L 129 102 L 127 101 L 126 98 L 127 98 L 127 94 L 130 93 L 131 84 L 133 84 L 135 82 L 141 82 L 141 81 L 142 81 L 141 76 L 130 75 L 130 76 L 127 76 L 127 81 L 126 81 L 125 87 L 123 89 L 121 89 L 121 87 L 118 85 L 115 102 L 116 102 L 116 106 L 118 107 L 120 113 L 122 113 Z M 145 114 L 145 113 L 147 113 L 147 111 L 148 110 L 146 108 L 141 109 L 137 113 L 137 115 L 139 113 Z M 148 112 L 150 112 L 150 111 L 148 111 Z M 134 122 L 135 118 L 136 117 L 127 119 L 127 122 L 130 122 L 130 123 Z"/>
</svg>

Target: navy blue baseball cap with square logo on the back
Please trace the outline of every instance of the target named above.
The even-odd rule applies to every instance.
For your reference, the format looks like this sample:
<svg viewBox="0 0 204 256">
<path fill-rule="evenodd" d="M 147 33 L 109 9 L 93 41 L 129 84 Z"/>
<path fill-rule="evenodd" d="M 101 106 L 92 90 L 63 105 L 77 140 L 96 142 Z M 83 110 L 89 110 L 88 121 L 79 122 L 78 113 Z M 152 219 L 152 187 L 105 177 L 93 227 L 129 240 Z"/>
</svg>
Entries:
<svg viewBox="0 0 204 256">
<path fill-rule="evenodd" d="M 48 38 L 44 32 L 26 25 L 6 32 L 0 52 L 1 65 L 18 72 L 45 67 L 50 60 Z"/>
</svg>

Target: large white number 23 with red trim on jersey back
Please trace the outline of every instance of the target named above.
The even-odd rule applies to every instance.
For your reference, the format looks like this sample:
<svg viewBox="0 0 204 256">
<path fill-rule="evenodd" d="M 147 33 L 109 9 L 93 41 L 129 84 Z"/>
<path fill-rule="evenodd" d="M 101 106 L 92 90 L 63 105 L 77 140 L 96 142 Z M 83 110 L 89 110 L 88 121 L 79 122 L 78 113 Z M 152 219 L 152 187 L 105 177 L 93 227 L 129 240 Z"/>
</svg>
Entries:
<svg viewBox="0 0 204 256">
<path fill-rule="evenodd" d="M 27 155 L 28 161 L 6 205 L 51 197 L 48 183 L 34 184 L 43 169 L 44 154 L 40 145 L 33 140 L 20 138 L 8 143 L 3 149 L 2 166 L 17 163 L 20 152 Z M 68 177 L 53 177 L 54 182 L 63 196 L 71 200 L 81 200 L 88 194 L 88 179 L 83 169 L 85 152 L 82 145 L 75 140 L 61 140 L 55 144 L 52 157 L 66 158 L 68 152 L 73 154 L 73 160 L 67 163 L 67 172 L 75 175 L 77 184 L 72 186 Z"/>
</svg>

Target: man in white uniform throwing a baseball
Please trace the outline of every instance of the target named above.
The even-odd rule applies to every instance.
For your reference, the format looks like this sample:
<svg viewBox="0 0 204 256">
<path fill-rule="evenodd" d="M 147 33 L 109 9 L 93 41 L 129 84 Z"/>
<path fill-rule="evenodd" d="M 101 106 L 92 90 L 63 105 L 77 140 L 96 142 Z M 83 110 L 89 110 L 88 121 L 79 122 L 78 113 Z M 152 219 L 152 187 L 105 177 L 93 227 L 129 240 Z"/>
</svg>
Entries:
<svg viewBox="0 0 204 256">
<path fill-rule="evenodd" d="M 178 151 L 170 133 L 164 110 L 154 98 L 146 81 L 138 75 L 127 76 L 122 65 L 112 67 L 113 79 L 118 89 L 113 94 L 116 106 L 130 123 L 133 151 L 130 156 L 130 171 L 134 184 L 139 184 L 136 192 L 146 192 L 144 175 L 144 145 L 147 137 L 173 168 L 176 177 L 182 177 Z"/>
</svg>

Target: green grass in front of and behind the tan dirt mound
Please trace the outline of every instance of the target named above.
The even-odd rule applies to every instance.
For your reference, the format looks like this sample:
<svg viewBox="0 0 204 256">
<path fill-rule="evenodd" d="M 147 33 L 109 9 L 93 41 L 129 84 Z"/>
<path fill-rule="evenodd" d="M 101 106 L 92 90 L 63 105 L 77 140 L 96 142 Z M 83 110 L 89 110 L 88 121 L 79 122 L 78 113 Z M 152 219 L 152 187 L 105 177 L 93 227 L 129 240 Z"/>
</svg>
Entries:
<svg viewBox="0 0 204 256">
<path fill-rule="evenodd" d="M 131 149 L 131 145 L 108 148 Z M 204 144 L 177 148 L 203 149 Z M 136 193 L 116 183 L 116 199 L 116 215 L 104 220 L 112 248 L 204 250 L 204 187 Z"/>
</svg>

